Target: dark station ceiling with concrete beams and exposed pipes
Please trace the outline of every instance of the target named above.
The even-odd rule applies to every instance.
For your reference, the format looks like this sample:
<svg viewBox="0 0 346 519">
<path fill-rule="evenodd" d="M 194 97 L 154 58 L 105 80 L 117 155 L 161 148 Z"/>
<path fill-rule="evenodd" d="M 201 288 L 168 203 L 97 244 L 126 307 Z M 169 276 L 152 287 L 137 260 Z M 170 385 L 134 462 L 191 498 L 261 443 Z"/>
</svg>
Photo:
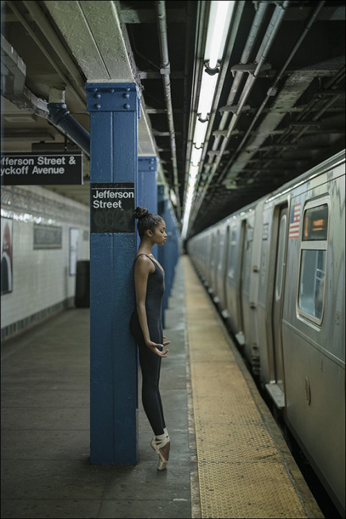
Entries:
<svg viewBox="0 0 346 519">
<path fill-rule="evenodd" d="M 158 156 L 180 222 L 210 2 L 30 0 L 1 9 L 3 151 L 75 146 L 45 112 L 52 91 L 64 90 L 89 131 L 85 82 L 136 81 L 138 155 Z M 345 147 L 345 2 L 235 2 L 206 124 L 190 236 Z M 83 186 L 51 188 L 89 206 L 89 157 Z"/>
</svg>

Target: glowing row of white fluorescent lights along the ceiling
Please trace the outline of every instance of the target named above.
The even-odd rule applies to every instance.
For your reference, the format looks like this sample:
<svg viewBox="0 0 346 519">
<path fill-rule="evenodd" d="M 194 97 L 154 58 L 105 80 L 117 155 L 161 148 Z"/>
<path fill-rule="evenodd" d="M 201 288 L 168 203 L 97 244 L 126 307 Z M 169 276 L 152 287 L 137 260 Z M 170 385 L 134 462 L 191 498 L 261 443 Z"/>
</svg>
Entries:
<svg viewBox="0 0 346 519">
<path fill-rule="evenodd" d="M 208 67 L 210 69 L 216 69 L 218 62 L 224 55 L 224 46 L 226 44 L 226 37 L 228 35 L 228 28 L 230 26 L 234 6 L 235 1 L 221 0 L 211 2 L 206 49 L 204 52 L 204 61 L 208 62 Z M 199 104 L 197 108 L 197 114 L 199 114 L 199 116 L 194 127 L 194 147 L 192 148 L 190 157 L 188 193 L 185 199 L 183 229 L 181 231 L 182 238 L 185 238 L 188 233 L 188 222 L 194 197 L 194 185 L 199 172 L 203 143 L 206 139 L 206 132 L 208 129 L 208 115 L 212 109 L 212 101 L 217 87 L 217 80 L 217 73 L 210 76 L 206 71 L 203 71 L 201 89 L 199 91 Z M 202 123 L 199 119 L 206 122 Z"/>
</svg>

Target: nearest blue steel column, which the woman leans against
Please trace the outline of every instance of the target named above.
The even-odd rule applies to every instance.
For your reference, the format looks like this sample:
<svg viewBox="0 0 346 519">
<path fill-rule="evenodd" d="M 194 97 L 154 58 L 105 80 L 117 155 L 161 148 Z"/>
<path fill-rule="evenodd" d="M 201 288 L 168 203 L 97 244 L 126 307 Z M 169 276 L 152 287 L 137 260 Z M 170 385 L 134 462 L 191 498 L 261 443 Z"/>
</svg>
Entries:
<svg viewBox="0 0 346 519">
<path fill-rule="evenodd" d="M 91 183 L 134 182 L 140 92 L 135 83 L 87 83 Z M 132 232 L 92 233 L 90 240 L 91 464 L 138 461 L 137 352 Z"/>
</svg>

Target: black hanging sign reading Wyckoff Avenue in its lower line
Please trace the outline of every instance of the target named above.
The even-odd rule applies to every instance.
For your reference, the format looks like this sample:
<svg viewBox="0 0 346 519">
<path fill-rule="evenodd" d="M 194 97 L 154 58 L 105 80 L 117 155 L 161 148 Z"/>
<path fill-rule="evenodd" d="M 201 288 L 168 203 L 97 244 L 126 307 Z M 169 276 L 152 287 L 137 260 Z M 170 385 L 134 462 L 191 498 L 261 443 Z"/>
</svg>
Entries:
<svg viewBox="0 0 346 519">
<path fill-rule="evenodd" d="M 1 153 L 1 186 L 83 184 L 82 152 Z"/>
</svg>

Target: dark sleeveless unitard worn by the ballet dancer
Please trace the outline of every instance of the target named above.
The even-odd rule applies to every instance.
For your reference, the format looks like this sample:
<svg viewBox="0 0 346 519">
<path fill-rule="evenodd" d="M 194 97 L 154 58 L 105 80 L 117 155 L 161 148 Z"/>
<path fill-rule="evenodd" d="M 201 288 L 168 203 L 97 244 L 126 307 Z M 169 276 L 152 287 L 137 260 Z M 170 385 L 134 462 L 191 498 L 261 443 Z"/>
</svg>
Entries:
<svg viewBox="0 0 346 519">
<path fill-rule="evenodd" d="M 142 254 L 139 254 L 142 256 Z M 147 254 L 143 254 L 147 256 Z M 136 259 L 137 259 L 136 258 Z M 149 258 L 149 256 L 147 256 Z M 149 274 L 147 281 L 147 294 L 145 297 L 145 310 L 150 340 L 156 344 L 163 344 L 163 329 L 161 322 L 161 301 L 165 292 L 165 273 L 158 264 L 154 263 L 155 272 Z M 161 403 L 158 382 L 160 380 L 161 357 L 153 353 L 146 345 L 142 328 L 138 319 L 137 310 L 131 315 L 131 333 L 138 343 L 140 369 L 142 370 L 142 403 L 154 434 L 163 434 L 165 419 Z M 162 351 L 162 348 L 161 348 Z"/>
</svg>

